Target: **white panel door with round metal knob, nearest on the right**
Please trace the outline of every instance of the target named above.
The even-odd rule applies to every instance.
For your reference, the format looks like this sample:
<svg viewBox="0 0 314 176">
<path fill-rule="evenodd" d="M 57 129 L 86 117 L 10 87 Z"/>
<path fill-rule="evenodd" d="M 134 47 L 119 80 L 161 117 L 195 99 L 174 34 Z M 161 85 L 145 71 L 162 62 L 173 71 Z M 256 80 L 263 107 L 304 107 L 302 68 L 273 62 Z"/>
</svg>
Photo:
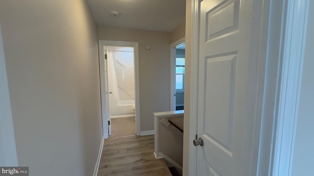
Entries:
<svg viewBox="0 0 314 176">
<path fill-rule="evenodd" d="M 197 176 L 249 176 L 246 125 L 251 0 L 200 3 Z M 253 125 L 253 124 L 251 124 Z M 244 132 L 245 131 L 245 132 Z"/>
</svg>

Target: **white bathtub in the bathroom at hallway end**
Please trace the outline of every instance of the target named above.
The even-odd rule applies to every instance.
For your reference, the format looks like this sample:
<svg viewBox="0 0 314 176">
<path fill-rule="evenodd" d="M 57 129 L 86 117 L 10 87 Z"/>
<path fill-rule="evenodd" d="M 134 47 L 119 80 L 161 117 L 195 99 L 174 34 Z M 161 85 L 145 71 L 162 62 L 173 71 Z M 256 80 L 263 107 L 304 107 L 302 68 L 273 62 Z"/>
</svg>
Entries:
<svg viewBox="0 0 314 176">
<path fill-rule="evenodd" d="M 111 118 L 122 117 L 122 116 L 131 116 L 135 115 L 134 110 L 132 109 L 135 104 L 134 100 L 120 101 L 118 106 L 110 106 L 110 116 Z"/>
</svg>

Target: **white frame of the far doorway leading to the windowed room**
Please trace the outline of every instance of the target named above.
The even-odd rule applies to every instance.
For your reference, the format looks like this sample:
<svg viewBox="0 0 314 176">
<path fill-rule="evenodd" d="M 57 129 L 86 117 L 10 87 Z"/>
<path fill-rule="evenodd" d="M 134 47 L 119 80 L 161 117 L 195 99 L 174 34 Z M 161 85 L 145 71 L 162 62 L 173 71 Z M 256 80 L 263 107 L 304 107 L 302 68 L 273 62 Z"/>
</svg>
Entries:
<svg viewBox="0 0 314 176">
<path fill-rule="evenodd" d="M 176 46 L 185 43 L 185 37 L 170 44 L 170 110 L 176 110 Z"/>
</svg>

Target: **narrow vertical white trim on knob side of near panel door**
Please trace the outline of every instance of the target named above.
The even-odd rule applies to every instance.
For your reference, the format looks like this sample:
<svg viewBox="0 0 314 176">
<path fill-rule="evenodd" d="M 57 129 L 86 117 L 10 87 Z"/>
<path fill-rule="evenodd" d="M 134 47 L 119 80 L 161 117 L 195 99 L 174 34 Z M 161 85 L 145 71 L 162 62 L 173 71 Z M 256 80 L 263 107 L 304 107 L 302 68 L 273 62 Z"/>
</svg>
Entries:
<svg viewBox="0 0 314 176">
<path fill-rule="evenodd" d="M 198 107 L 198 25 L 199 25 L 199 0 L 192 0 L 192 29 L 191 29 L 191 85 L 190 85 L 190 117 L 189 121 L 189 146 L 188 146 L 188 176 L 196 176 L 197 147 L 192 141 L 197 134 L 197 107 Z M 183 133 L 183 135 L 187 133 Z M 185 138 L 185 137 L 183 137 Z"/>
</svg>

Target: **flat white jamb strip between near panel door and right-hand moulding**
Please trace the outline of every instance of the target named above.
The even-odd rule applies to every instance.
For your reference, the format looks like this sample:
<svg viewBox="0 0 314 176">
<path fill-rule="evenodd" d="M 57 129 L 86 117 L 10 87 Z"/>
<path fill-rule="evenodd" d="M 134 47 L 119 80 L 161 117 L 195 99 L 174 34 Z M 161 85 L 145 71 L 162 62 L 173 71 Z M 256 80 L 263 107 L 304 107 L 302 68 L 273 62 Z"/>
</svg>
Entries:
<svg viewBox="0 0 314 176">
<path fill-rule="evenodd" d="M 266 54 L 267 53 L 267 38 L 269 29 L 269 3 L 267 0 L 252 0 L 252 11 L 255 12 L 251 16 L 251 32 L 250 32 L 250 58 L 257 58 L 249 61 L 249 75 L 247 85 L 247 99 L 246 101 L 250 104 L 255 102 L 255 105 L 248 105 L 246 110 L 247 117 L 254 120 L 250 122 L 254 124 L 250 131 L 253 131 L 253 142 L 252 146 L 244 149 L 251 151 L 251 166 L 250 175 L 257 175 L 260 155 L 260 140 L 261 136 L 261 119 L 262 119 L 262 108 L 264 101 L 264 87 L 265 87 L 265 69 L 266 69 Z M 266 128 L 267 129 L 267 128 Z M 265 154 L 266 155 L 266 154 Z M 265 157 L 266 158 L 266 157 Z M 268 157 L 269 159 L 269 157 Z M 264 164 L 264 163 L 262 163 Z M 267 163 L 266 163 L 267 165 Z M 265 173 L 262 176 L 266 176 Z"/>
</svg>

